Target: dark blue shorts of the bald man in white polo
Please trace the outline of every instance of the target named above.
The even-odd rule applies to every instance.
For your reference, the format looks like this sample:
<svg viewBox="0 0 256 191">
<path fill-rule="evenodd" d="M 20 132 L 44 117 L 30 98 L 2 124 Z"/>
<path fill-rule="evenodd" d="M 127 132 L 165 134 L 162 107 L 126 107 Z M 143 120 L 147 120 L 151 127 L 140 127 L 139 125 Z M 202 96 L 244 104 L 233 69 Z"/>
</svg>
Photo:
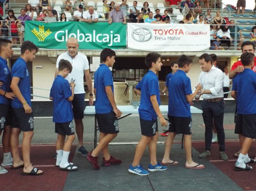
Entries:
<svg viewBox="0 0 256 191">
<path fill-rule="evenodd" d="M 83 119 L 84 110 L 84 93 L 74 94 L 74 99 L 72 101 L 74 119 Z"/>
</svg>

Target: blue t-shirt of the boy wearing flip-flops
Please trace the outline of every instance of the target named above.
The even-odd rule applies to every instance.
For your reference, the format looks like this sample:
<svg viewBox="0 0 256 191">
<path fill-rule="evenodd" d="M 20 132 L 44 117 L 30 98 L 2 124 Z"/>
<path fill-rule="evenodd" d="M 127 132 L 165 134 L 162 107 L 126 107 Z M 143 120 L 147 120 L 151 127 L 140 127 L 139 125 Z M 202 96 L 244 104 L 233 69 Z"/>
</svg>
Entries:
<svg viewBox="0 0 256 191">
<path fill-rule="evenodd" d="M 186 95 L 191 95 L 191 82 L 186 73 L 178 70 L 171 78 L 169 87 L 168 116 L 191 117 L 190 104 Z"/>
</svg>

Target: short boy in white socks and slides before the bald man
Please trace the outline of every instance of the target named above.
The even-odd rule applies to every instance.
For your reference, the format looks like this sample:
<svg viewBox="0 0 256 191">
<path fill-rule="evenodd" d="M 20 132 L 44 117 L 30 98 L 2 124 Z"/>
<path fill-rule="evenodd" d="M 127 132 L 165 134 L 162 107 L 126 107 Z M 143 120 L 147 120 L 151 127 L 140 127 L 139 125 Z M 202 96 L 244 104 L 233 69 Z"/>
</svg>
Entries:
<svg viewBox="0 0 256 191">
<path fill-rule="evenodd" d="M 62 170 L 77 170 L 73 163 L 68 162 L 71 145 L 75 139 L 73 126 L 73 111 L 71 101 L 74 98 L 74 81 L 71 81 L 71 90 L 65 78 L 72 72 L 72 65 L 68 60 L 59 61 L 59 74 L 53 81 L 50 91 L 50 100 L 53 101 L 53 119 L 55 132 L 58 133 L 56 141 L 56 167 Z M 66 142 L 65 138 L 68 136 Z"/>
</svg>

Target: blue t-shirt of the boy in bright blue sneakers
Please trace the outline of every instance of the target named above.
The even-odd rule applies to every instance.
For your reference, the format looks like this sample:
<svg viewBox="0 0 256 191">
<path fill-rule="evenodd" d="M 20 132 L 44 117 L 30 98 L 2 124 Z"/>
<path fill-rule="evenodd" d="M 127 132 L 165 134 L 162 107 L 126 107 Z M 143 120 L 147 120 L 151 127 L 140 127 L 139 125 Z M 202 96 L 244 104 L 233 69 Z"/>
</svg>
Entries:
<svg viewBox="0 0 256 191">
<path fill-rule="evenodd" d="M 157 75 L 151 70 L 148 70 L 148 73 L 135 88 L 141 90 L 139 117 L 149 121 L 157 119 L 157 113 L 150 101 L 150 96 L 156 95 L 158 105 L 160 105 L 160 91 Z"/>
</svg>

